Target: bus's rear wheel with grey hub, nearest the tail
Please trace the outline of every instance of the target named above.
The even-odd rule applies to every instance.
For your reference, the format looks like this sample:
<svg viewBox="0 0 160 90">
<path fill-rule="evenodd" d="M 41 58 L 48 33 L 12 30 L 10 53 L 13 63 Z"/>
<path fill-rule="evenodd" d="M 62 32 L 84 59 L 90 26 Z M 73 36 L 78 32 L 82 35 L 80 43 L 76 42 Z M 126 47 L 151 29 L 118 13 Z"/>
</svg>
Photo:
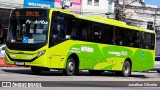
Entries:
<svg viewBox="0 0 160 90">
<path fill-rule="evenodd" d="M 124 62 L 121 74 L 123 77 L 128 77 L 131 75 L 131 64 L 129 61 Z"/>
</svg>

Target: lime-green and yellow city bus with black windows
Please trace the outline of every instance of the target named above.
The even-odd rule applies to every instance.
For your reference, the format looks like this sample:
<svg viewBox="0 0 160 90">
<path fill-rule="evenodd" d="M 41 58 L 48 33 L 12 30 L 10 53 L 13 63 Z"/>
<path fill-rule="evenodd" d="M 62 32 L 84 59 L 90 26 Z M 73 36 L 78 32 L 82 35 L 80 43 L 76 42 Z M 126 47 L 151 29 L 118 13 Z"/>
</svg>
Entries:
<svg viewBox="0 0 160 90">
<path fill-rule="evenodd" d="M 11 12 L 6 63 L 75 75 L 154 68 L 155 32 L 99 16 L 82 16 L 63 9 L 23 8 Z"/>
</svg>

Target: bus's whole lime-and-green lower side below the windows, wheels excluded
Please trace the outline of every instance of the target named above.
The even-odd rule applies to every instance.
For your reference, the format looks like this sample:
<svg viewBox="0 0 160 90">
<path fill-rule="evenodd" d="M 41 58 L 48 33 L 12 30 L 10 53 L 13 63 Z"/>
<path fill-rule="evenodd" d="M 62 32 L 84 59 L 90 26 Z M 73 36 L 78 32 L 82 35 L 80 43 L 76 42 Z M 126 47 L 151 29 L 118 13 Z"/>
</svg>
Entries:
<svg viewBox="0 0 160 90">
<path fill-rule="evenodd" d="M 68 40 L 50 48 L 48 55 L 52 57 L 51 68 L 64 69 L 68 57 L 76 54 L 80 62 L 79 69 L 120 71 L 124 61 L 129 58 L 133 71 L 144 71 L 152 68 L 154 55 L 152 52 L 152 50 Z"/>
</svg>

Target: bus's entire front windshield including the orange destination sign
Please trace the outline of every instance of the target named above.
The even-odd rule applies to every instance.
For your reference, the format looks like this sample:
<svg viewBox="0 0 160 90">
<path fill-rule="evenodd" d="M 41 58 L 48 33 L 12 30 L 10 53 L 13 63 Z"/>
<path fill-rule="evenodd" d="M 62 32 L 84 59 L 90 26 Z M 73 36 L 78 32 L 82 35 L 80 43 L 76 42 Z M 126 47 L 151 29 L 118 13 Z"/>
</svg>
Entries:
<svg viewBox="0 0 160 90">
<path fill-rule="evenodd" d="M 47 40 L 48 11 L 16 9 L 12 12 L 7 41 L 10 43 L 43 43 Z"/>
</svg>

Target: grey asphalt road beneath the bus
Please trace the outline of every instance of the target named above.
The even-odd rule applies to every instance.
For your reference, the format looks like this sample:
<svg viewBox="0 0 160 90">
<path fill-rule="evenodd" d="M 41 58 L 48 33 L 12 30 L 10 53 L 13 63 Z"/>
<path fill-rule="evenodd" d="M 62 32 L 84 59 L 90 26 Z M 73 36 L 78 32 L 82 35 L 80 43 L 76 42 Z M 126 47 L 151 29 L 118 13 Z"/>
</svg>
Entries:
<svg viewBox="0 0 160 90">
<path fill-rule="evenodd" d="M 42 82 L 42 88 L 24 88 L 25 90 L 159 90 L 160 87 L 128 87 L 129 83 L 157 83 L 160 85 L 160 74 L 155 71 L 132 72 L 130 77 L 116 76 L 114 73 L 105 72 L 100 76 L 92 76 L 87 71 L 81 72 L 78 76 L 64 76 L 62 71 L 44 71 L 40 75 L 33 75 L 30 68 L 0 67 L 0 81 L 18 83 Z M 27 82 L 26 82 L 27 81 Z M 46 82 L 43 82 L 46 81 Z M 53 81 L 53 82 L 51 82 Z M 125 82 L 122 82 L 125 81 Z M 1 84 L 2 82 L 0 82 Z M 125 84 L 124 84 L 125 83 Z M 108 85 L 109 87 L 106 87 Z M 121 87 L 122 85 L 122 87 Z M 46 87 L 44 87 L 46 86 Z M 50 87 L 51 86 L 51 87 Z M 117 87 L 120 86 L 120 87 Z M 17 87 L 2 87 L 5 90 L 17 90 Z"/>
</svg>

